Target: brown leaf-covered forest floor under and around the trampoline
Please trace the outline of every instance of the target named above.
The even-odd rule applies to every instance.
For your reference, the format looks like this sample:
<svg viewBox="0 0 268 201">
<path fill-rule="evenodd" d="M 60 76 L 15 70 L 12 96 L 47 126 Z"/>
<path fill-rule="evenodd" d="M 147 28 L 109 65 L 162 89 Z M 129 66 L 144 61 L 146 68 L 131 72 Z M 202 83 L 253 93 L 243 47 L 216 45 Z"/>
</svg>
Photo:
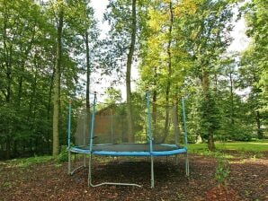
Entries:
<svg viewBox="0 0 268 201">
<path fill-rule="evenodd" d="M 19 165 L 0 162 L 0 200 L 268 200 L 268 153 L 261 158 L 232 153 L 227 188 L 215 179 L 217 159 L 190 154 L 190 177 L 185 177 L 184 158 L 155 162 L 155 188 L 150 188 L 150 162 L 122 162 L 94 157 L 93 182 L 121 181 L 142 184 L 87 187 L 87 170 L 67 175 L 67 162 Z M 110 161 L 110 162 L 107 162 Z"/>
</svg>

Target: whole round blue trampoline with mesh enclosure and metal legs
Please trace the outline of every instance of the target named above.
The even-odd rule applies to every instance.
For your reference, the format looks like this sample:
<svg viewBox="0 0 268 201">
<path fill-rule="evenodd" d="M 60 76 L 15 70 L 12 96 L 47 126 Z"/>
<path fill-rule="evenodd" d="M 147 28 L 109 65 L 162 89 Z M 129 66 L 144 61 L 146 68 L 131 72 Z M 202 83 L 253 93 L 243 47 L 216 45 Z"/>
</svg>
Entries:
<svg viewBox="0 0 268 201">
<path fill-rule="evenodd" d="M 184 146 L 181 146 L 178 135 L 177 108 L 153 105 L 150 103 L 148 91 L 146 98 L 146 104 L 139 104 L 138 106 L 131 105 L 131 118 L 129 118 L 127 116 L 129 115 L 128 109 L 130 108 L 125 103 L 103 106 L 103 109 L 96 111 L 96 93 L 94 93 L 94 104 L 91 114 L 88 111 L 80 114 L 80 120 L 77 122 L 75 134 L 76 145 L 74 146 L 71 146 L 72 110 L 70 102 L 68 118 L 68 174 L 73 174 L 79 168 L 85 167 L 84 158 L 84 164 L 72 171 L 71 153 L 84 153 L 85 155 L 89 155 L 89 186 L 124 185 L 141 187 L 139 184 L 120 182 L 93 184 L 92 155 L 149 157 L 151 163 L 151 188 L 154 188 L 154 157 L 176 156 L 177 154 L 183 153 L 185 155 L 185 173 L 188 176 L 189 161 L 184 100 Z"/>
</svg>

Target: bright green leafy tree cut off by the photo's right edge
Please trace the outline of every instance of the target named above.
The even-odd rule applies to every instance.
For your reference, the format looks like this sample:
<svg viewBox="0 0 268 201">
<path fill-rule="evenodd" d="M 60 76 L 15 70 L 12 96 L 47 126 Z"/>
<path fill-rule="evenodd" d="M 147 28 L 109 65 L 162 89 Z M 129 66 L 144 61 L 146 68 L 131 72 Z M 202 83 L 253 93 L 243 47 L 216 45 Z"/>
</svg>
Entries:
<svg viewBox="0 0 268 201">
<path fill-rule="evenodd" d="M 265 1 L 254 0 L 244 7 L 248 25 L 247 35 L 253 39 L 241 60 L 241 80 L 250 87 L 249 102 L 254 111 L 258 138 L 263 138 L 262 125 L 267 123 L 267 28 L 268 14 Z"/>
</svg>

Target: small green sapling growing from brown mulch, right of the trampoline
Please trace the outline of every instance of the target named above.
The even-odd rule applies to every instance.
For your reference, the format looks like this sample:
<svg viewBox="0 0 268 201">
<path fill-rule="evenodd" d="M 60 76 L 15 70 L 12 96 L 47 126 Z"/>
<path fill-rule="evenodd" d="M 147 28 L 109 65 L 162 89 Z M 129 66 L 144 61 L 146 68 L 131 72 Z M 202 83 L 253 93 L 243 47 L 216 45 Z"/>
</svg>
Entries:
<svg viewBox="0 0 268 201">
<path fill-rule="evenodd" d="M 230 170 L 228 165 L 228 160 L 224 157 L 219 157 L 218 165 L 216 167 L 215 179 L 221 185 L 227 185 Z"/>
</svg>

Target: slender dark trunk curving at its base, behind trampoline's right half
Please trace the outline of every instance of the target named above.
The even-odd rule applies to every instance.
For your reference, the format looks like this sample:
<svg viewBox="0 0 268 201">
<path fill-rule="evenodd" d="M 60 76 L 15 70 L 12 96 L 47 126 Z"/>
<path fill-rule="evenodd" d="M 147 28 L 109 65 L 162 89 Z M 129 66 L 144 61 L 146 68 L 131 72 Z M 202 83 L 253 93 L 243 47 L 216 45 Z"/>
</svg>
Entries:
<svg viewBox="0 0 268 201">
<path fill-rule="evenodd" d="M 169 2 L 169 29 L 168 29 L 168 44 L 167 44 L 167 71 L 168 71 L 168 75 L 167 75 L 167 84 L 166 84 L 166 89 L 165 89 L 165 103 L 166 105 L 169 104 L 169 93 L 170 93 L 170 86 L 171 86 L 171 82 L 170 82 L 170 77 L 172 74 L 172 63 L 171 63 L 171 43 L 172 43 L 172 30 L 173 30 L 173 23 L 174 23 L 174 13 L 173 13 L 173 8 L 172 8 L 172 1 Z M 168 135 L 169 132 L 169 107 L 166 106 L 165 109 L 165 128 L 164 128 L 164 136 L 161 140 L 160 143 L 164 143 L 165 142 L 165 138 Z"/>
</svg>

